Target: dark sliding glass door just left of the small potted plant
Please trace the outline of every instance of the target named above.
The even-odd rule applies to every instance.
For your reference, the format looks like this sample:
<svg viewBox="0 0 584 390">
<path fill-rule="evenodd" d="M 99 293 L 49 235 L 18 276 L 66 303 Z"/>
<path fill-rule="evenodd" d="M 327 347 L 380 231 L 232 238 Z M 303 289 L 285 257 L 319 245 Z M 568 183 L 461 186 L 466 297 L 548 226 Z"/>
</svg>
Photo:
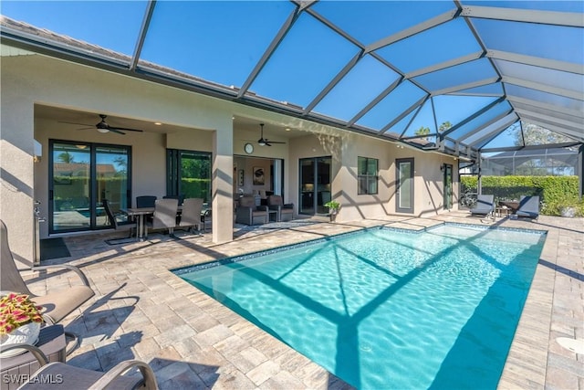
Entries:
<svg viewBox="0 0 584 390">
<path fill-rule="evenodd" d="M 300 159 L 300 214 L 328 213 L 331 162 L 331 157 Z"/>
</svg>

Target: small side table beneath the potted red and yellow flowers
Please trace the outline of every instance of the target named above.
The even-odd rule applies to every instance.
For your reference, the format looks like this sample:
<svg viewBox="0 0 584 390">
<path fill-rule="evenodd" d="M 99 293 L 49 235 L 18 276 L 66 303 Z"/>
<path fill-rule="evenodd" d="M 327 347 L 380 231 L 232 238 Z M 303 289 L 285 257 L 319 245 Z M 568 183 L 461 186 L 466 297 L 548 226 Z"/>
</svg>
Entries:
<svg viewBox="0 0 584 390">
<path fill-rule="evenodd" d="M 63 325 L 48 325 L 41 328 L 35 346 L 47 355 L 49 363 L 65 363 L 67 342 Z M 0 388 L 12 390 L 26 382 L 29 376 L 40 368 L 40 364 L 32 353 L 26 352 L 0 358 L 0 368 L 2 370 Z"/>
</svg>

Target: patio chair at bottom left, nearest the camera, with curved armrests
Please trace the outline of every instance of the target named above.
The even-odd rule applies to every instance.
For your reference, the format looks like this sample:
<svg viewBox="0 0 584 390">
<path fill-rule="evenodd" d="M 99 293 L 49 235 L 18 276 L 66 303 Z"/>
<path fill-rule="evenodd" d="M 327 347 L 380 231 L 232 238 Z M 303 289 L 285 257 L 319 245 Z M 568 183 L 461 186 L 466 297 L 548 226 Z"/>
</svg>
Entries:
<svg viewBox="0 0 584 390">
<path fill-rule="evenodd" d="M 9 348 L 22 348 L 22 344 L 11 344 Z M 36 357 L 40 368 L 32 374 L 19 390 L 78 389 L 136 389 L 156 390 L 158 384 L 151 366 L 138 360 L 125 360 L 106 373 L 88 370 L 73 365 L 47 363 L 47 356 L 34 345 L 26 346 Z M 36 350 L 36 351 L 35 351 Z M 140 372 L 140 375 L 133 374 Z M 131 374 L 130 374 L 131 373 Z M 128 374 L 128 375 L 126 375 Z M 52 380 L 47 380 L 51 378 Z"/>
</svg>

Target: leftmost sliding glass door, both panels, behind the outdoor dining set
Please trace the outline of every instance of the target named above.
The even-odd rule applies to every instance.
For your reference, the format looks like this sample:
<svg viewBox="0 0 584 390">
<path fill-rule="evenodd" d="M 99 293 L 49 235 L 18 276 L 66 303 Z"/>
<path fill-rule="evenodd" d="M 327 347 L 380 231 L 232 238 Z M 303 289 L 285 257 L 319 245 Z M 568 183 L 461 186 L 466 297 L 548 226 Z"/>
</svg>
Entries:
<svg viewBox="0 0 584 390">
<path fill-rule="evenodd" d="M 130 146 L 51 140 L 49 148 L 49 233 L 110 227 L 101 205 L 130 204 Z"/>
</svg>

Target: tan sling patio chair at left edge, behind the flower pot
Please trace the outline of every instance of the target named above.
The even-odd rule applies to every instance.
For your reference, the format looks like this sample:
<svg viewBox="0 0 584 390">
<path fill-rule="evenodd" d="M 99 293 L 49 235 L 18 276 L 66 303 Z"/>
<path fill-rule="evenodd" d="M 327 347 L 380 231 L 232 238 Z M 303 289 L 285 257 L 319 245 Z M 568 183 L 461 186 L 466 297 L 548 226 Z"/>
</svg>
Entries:
<svg viewBox="0 0 584 390">
<path fill-rule="evenodd" d="M 75 272 L 78 278 L 81 280 L 81 285 L 74 285 L 69 287 L 67 290 L 57 290 L 56 292 L 50 292 L 46 295 L 35 295 L 28 287 L 26 287 L 26 282 L 22 279 L 20 271 L 16 268 L 15 258 L 12 256 L 12 251 L 8 246 L 8 229 L 5 226 L 3 220 L 0 219 L 0 246 L 2 251 L 0 252 L 2 258 L 0 258 L 0 290 L 18 292 L 21 294 L 29 295 L 37 305 L 44 308 L 43 317 L 48 322 L 57 323 L 63 320 L 72 311 L 75 311 L 80 307 L 86 300 L 95 295 L 95 291 L 89 287 L 89 280 L 85 274 L 75 266 L 68 264 L 58 264 L 51 266 L 38 266 L 33 267 L 31 270 L 40 271 L 46 269 L 65 269 Z M 77 346 L 77 336 L 71 332 L 65 332 L 65 334 L 75 340 L 75 343 L 68 348 L 68 353 L 70 353 Z"/>
</svg>

